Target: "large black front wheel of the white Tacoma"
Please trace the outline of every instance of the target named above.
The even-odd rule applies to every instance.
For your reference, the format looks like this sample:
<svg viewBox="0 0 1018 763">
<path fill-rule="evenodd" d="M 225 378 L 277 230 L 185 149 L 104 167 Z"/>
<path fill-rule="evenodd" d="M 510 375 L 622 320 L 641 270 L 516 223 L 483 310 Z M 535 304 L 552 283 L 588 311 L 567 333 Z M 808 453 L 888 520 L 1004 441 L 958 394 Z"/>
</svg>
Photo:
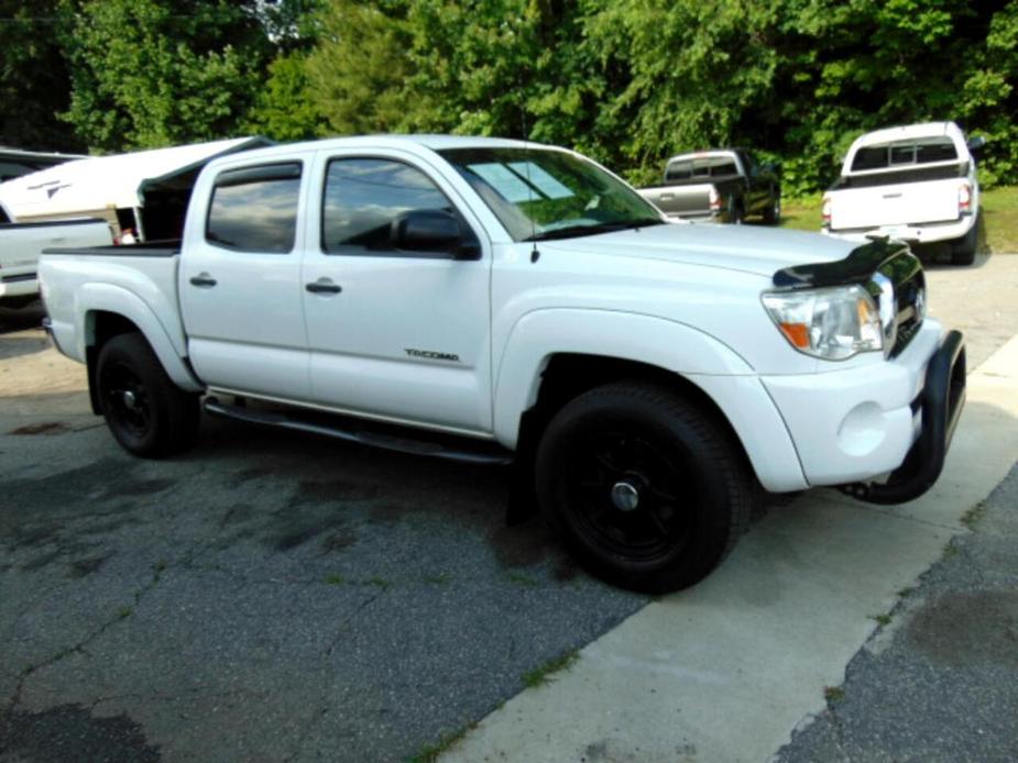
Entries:
<svg viewBox="0 0 1018 763">
<path fill-rule="evenodd" d="M 668 389 L 635 382 L 567 403 L 540 441 L 535 478 L 541 510 L 584 565 L 652 593 L 707 576 L 753 502 L 721 427 Z"/>
</svg>

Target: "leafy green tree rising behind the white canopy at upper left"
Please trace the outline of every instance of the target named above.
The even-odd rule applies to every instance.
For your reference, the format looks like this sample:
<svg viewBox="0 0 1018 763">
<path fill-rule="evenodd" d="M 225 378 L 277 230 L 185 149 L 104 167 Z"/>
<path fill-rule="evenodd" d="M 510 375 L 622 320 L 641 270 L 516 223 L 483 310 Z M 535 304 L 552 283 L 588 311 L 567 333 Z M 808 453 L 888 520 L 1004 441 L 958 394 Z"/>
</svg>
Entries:
<svg viewBox="0 0 1018 763">
<path fill-rule="evenodd" d="M 65 8 L 74 8 L 65 0 Z M 226 0 L 86 0 L 64 45 L 64 118 L 101 151 L 234 135 L 271 54 L 249 8 Z"/>
</svg>

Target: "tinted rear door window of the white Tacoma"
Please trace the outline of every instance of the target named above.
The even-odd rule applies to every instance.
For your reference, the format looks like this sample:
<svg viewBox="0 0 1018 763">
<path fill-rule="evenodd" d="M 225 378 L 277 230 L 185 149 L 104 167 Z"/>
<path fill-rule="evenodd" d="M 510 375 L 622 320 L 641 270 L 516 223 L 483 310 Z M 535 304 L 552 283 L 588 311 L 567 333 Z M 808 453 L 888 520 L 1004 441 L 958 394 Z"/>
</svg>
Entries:
<svg viewBox="0 0 1018 763">
<path fill-rule="evenodd" d="M 234 252 L 292 252 L 302 170 L 300 162 L 283 162 L 219 173 L 209 202 L 206 241 Z"/>
</svg>

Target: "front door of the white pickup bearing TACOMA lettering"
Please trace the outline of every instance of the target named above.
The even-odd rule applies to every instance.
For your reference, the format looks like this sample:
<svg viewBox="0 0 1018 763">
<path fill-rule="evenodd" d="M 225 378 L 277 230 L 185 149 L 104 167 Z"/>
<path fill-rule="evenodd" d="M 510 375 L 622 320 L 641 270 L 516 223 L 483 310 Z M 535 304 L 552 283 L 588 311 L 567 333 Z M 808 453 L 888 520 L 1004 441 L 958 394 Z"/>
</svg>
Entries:
<svg viewBox="0 0 1018 763">
<path fill-rule="evenodd" d="M 441 170 L 394 150 L 327 154 L 313 199 L 303 280 L 316 402 L 490 432 L 491 252 Z M 463 250 L 401 250 L 394 223 L 415 210 L 455 215 Z"/>
</svg>

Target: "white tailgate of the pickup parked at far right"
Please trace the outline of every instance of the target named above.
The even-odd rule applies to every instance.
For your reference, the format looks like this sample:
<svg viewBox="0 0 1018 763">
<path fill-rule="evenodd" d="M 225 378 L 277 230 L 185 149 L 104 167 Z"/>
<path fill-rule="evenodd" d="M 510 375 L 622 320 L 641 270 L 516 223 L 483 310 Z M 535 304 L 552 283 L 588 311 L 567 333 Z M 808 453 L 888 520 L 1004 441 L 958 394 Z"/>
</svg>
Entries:
<svg viewBox="0 0 1018 763">
<path fill-rule="evenodd" d="M 831 193 L 831 230 L 957 220 L 957 179 L 846 188 Z"/>
</svg>

